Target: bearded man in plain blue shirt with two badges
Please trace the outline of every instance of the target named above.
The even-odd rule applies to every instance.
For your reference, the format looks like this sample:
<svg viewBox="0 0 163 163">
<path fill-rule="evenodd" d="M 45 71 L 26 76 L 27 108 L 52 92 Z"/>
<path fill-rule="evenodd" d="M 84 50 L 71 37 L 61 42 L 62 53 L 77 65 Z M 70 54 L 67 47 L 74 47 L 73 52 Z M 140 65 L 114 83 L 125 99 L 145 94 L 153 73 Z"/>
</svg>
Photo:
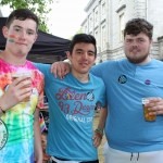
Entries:
<svg viewBox="0 0 163 163">
<path fill-rule="evenodd" d="M 163 163 L 163 62 L 151 59 L 153 25 L 133 18 L 124 29 L 126 59 L 106 61 L 90 71 L 106 87 L 106 163 Z M 64 67 L 65 66 L 65 67 Z M 70 64 L 54 63 L 61 78 Z M 146 122 L 141 99 L 155 97 L 146 104 L 153 122 Z"/>
</svg>

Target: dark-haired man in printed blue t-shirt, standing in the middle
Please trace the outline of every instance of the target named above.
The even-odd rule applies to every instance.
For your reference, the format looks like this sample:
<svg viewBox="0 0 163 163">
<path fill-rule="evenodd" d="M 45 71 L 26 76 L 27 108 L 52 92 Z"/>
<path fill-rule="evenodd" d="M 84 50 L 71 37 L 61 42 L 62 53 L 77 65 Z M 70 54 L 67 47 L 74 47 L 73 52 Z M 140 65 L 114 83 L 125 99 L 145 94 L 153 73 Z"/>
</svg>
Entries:
<svg viewBox="0 0 163 163">
<path fill-rule="evenodd" d="M 47 153 L 53 163 L 99 163 L 97 147 L 105 117 L 95 131 L 92 123 L 96 103 L 105 106 L 105 87 L 102 79 L 89 74 L 96 58 L 95 37 L 77 34 L 67 52 L 72 70 L 63 80 L 53 77 L 51 65 L 34 64 L 45 75 L 50 116 Z"/>
</svg>

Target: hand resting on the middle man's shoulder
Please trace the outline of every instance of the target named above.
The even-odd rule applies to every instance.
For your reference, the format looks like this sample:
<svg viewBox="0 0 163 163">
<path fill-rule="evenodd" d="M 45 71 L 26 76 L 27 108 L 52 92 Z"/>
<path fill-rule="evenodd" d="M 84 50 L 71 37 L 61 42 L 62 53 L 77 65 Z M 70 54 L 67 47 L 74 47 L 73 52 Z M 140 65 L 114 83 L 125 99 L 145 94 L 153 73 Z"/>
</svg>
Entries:
<svg viewBox="0 0 163 163">
<path fill-rule="evenodd" d="M 63 79 L 66 74 L 70 73 L 70 63 L 68 62 L 54 62 L 51 65 L 51 73 L 53 73 L 54 77 L 59 75 L 60 79 Z"/>
</svg>

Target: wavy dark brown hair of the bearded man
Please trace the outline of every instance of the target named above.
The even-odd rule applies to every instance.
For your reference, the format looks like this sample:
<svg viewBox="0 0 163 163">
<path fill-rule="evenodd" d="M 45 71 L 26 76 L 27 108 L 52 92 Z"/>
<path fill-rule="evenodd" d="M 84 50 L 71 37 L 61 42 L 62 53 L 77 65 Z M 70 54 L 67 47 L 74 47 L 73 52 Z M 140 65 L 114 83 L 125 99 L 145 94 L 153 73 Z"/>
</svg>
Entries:
<svg viewBox="0 0 163 163">
<path fill-rule="evenodd" d="M 133 18 L 126 23 L 124 38 L 126 35 L 137 36 L 140 33 L 146 34 L 151 39 L 153 35 L 153 25 L 143 18 Z"/>
</svg>

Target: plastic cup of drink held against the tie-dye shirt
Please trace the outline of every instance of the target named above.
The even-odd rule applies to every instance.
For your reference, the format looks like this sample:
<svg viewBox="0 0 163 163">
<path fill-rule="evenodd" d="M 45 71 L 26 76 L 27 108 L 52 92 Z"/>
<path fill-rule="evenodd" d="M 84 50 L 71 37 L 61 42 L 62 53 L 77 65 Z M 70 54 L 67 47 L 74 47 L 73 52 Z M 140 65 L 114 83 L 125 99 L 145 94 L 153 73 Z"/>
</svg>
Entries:
<svg viewBox="0 0 163 163">
<path fill-rule="evenodd" d="M 24 73 L 14 73 L 12 74 L 12 80 L 16 79 L 17 77 L 22 77 L 22 76 L 27 76 L 27 79 L 30 79 L 32 77 L 32 73 L 30 72 L 24 72 Z M 28 87 L 28 85 L 22 87 L 22 89 Z M 27 97 L 25 99 L 22 100 L 22 102 L 28 102 L 30 99 L 30 97 Z"/>
</svg>

